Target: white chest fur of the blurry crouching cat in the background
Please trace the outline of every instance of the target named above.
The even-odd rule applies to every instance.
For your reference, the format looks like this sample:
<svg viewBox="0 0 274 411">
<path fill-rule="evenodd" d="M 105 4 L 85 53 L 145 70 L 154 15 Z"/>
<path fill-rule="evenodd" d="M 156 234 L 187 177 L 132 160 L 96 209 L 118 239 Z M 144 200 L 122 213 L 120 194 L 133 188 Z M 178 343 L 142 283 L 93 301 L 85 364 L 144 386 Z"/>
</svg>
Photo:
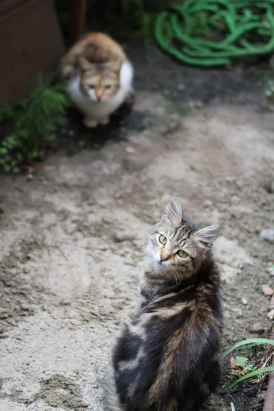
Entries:
<svg viewBox="0 0 274 411">
<path fill-rule="evenodd" d="M 125 97 L 132 87 L 134 69 L 129 61 L 123 62 L 120 71 L 120 88 L 116 94 L 104 101 L 92 101 L 82 93 L 80 77 L 74 77 L 67 86 L 67 91 L 73 103 L 86 116 L 102 119 L 112 114 L 125 101 Z"/>
</svg>

